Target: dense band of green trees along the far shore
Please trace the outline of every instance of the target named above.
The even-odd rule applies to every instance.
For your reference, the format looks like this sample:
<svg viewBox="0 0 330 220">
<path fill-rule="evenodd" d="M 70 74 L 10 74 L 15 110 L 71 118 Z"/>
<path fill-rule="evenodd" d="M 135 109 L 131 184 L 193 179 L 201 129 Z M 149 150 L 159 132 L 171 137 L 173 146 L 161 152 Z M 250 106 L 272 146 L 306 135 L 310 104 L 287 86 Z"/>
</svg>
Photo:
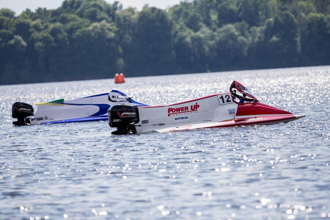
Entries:
<svg viewBox="0 0 330 220">
<path fill-rule="evenodd" d="M 0 9 L 0 85 L 329 65 L 328 0 Z"/>
</svg>

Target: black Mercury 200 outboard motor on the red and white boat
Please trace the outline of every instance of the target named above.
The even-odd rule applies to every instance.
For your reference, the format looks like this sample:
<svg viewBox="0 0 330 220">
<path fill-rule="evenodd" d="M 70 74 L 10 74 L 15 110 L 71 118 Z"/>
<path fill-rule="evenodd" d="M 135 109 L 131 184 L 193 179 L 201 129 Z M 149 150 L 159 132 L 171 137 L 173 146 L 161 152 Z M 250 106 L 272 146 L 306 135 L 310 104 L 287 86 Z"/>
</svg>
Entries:
<svg viewBox="0 0 330 220">
<path fill-rule="evenodd" d="M 117 128 L 111 134 L 127 135 L 135 134 L 135 123 L 139 122 L 138 111 L 135 107 L 126 105 L 113 105 L 108 109 L 109 125 Z"/>
</svg>

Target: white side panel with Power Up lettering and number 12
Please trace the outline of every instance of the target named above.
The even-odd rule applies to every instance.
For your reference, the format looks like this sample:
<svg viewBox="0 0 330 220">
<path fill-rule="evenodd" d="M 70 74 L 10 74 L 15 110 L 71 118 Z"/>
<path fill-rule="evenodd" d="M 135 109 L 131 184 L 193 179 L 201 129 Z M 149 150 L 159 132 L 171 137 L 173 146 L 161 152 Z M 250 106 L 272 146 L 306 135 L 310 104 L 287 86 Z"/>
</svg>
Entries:
<svg viewBox="0 0 330 220">
<path fill-rule="evenodd" d="M 223 98 L 228 95 L 229 99 Z M 228 103 L 227 103 L 228 101 Z M 200 99 L 167 106 L 139 107 L 137 133 L 153 132 L 187 124 L 199 124 L 234 119 L 238 104 L 230 93 L 215 94 Z"/>
</svg>

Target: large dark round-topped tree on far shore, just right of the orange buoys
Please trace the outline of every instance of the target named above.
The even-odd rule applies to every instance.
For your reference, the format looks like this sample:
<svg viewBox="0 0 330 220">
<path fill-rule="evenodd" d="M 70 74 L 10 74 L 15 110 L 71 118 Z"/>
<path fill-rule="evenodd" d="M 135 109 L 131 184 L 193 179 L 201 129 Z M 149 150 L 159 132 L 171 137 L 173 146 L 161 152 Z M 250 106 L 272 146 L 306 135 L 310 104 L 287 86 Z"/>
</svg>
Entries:
<svg viewBox="0 0 330 220">
<path fill-rule="evenodd" d="M 172 21 L 165 11 L 144 7 L 134 18 L 131 50 L 124 52 L 131 54 L 127 65 L 137 75 L 173 72 Z"/>
</svg>

